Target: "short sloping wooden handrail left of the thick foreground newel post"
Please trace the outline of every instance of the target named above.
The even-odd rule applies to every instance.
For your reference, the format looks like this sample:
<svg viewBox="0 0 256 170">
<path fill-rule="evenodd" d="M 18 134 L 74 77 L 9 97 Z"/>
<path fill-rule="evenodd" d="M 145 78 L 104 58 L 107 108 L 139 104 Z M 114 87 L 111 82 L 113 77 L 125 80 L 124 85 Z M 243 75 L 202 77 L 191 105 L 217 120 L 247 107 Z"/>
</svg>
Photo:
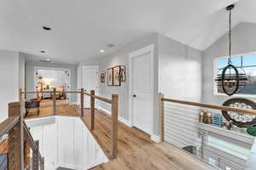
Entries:
<svg viewBox="0 0 256 170">
<path fill-rule="evenodd" d="M 9 133 L 17 122 L 20 121 L 20 116 L 10 116 L 9 118 L 5 119 L 3 122 L 0 123 L 0 137 L 3 136 L 5 133 Z"/>
</svg>

